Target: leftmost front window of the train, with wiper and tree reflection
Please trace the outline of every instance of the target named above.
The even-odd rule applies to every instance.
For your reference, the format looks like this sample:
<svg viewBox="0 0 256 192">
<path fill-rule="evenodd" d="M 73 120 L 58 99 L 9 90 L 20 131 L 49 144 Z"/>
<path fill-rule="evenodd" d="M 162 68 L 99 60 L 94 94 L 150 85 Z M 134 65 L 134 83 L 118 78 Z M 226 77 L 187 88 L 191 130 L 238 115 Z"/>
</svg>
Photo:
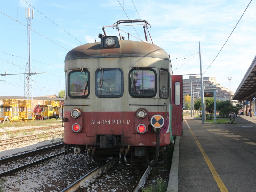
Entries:
<svg viewBox="0 0 256 192">
<path fill-rule="evenodd" d="M 90 73 L 86 69 L 71 71 L 68 75 L 68 96 L 85 98 L 90 94 Z"/>
</svg>

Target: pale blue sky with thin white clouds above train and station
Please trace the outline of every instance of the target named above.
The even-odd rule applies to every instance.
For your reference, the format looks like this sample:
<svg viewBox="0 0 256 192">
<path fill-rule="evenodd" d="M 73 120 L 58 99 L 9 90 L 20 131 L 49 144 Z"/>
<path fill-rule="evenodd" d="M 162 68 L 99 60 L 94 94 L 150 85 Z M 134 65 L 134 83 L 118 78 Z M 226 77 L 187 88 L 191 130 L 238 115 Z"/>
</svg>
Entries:
<svg viewBox="0 0 256 192">
<path fill-rule="evenodd" d="M 200 42 L 203 77 L 216 77 L 217 83 L 235 92 L 256 55 L 256 2 L 250 1 L 0 0 L 0 96 L 25 94 L 24 75 L 1 74 L 25 73 L 28 6 L 34 9 L 32 72 L 42 73 L 32 76 L 33 97 L 58 95 L 64 90 L 66 54 L 79 45 L 99 41 L 103 26 L 128 19 L 150 23 L 153 43 L 170 55 L 173 74 L 184 75 L 183 79 L 200 75 Z M 136 31 L 120 29 L 131 34 L 130 40 L 145 40 L 142 26 L 134 28 Z M 111 27 L 105 31 L 108 36 L 119 36 Z M 126 33 L 122 35 L 128 39 Z"/>
</svg>

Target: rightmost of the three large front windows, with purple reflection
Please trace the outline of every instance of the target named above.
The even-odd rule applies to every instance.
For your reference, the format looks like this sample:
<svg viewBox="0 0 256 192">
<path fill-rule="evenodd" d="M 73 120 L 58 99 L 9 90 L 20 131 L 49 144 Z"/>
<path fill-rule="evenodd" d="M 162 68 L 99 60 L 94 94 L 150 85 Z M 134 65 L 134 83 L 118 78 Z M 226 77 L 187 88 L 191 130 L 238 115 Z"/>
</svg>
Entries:
<svg viewBox="0 0 256 192">
<path fill-rule="evenodd" d="M 156 96 L 156 71 L 139 67 L 130 70 L 129 94 L 132 97 Z"/>
</svg>

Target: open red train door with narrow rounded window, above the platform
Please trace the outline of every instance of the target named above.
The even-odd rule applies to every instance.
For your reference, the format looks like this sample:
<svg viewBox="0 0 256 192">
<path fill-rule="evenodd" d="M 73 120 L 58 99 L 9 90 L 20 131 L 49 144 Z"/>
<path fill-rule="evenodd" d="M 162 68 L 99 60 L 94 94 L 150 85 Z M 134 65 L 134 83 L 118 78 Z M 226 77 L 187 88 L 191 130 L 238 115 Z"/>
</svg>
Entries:
<svg viewBox="0 0 256 192">
<path fill-rule="evenodd" d="M 182 75 L 172 75 L 172 135 L 183 134 Z"/>
</svg>

